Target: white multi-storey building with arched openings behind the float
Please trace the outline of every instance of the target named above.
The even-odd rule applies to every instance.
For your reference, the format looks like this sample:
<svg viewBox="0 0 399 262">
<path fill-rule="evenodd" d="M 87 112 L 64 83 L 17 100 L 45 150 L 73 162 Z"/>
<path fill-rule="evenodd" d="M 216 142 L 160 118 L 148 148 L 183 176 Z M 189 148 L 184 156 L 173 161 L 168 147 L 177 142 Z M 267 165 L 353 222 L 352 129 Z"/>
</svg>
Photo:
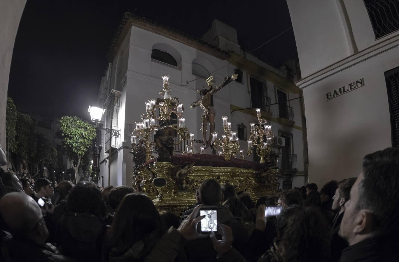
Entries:
<svg viewBox="0 0 399 262">
<path fill-rule="evenodd" d="M 186 37 L 145 18 L 124 18 L 111 45 L 108 56 L 111 63 L 98 96 L 97 106 L 106 109 L 103 126 L 118 129 L 121 134 L 120 138 L 106 133 L 100 135 L 100 184 L 130 186 L 133 182 L 130 135 L 136 127 L 135 122 L 140 121 L 140 115 L 145 112 L 144 103 L 148 99 L 162 101 L 159 95 L 162 74 L 170 76 L 172 96 L 183 103 L 186 126 L 190 133 L 195 133 L 196 153 L 202 145 L 202 110 L 190 108 L 190 102 L 200 97 L 196 90 L 206 86 L 205 78 L 210 75 L 217 85 L 224 76 L 238 73 L 236 81 L 213 95 L 216 132 L 220 137 L 223 133 L 221 117 L 228 116 L 232 128 L 239 129 L 241 149 L 246 153 L 249 123 L 257 122 L 255 108 L 262 108 L 262 115 L 271 123 L 275 136 L 285 138 L 284 147 L 276 147 L 281 153 L 279 162 L 284 175 L 280 187 L 283 183 L 286 188 L 303 186 L 307 181 L 304 167 L 307 153 L 300 89 L 287 80 L 286 70 L 273 68 L 251 54 L 239 59 L 244 53 L 237 43 L 234 28 L 214 20 L 202 39 Z M 196 78 L 199 79 L 194 80 Z M 279 101 L 281 103 L 276 104 Z M 184 145 L 175 149 L 175 154 L 179 154 Z M 211 154 L 211 149 L 206 149 L 205 153 Z M 257 160 L 254 154 L 245 154 L 245 159 Z"/>
</svg>

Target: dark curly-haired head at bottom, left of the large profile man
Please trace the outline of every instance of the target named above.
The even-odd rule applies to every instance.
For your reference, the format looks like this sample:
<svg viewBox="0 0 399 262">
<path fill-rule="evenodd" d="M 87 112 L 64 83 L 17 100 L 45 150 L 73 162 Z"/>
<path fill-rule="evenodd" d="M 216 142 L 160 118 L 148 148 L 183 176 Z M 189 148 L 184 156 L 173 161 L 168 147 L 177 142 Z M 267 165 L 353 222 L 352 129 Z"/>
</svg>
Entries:
<svg viewBox="0 0 399 262">
<path fill-rule="evenodd" d="M 328 223 L 320 209 L 292 206 L 276 221 L 277 238 L 258 262 L 330 261 Z"/>
</svg>

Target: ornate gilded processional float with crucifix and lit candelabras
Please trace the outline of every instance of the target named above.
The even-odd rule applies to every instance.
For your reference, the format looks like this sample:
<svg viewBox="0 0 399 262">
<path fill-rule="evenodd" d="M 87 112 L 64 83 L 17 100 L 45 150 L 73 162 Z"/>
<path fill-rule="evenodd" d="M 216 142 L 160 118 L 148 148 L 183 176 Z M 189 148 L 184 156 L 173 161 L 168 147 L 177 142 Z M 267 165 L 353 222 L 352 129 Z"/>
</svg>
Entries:
<svg viewBox="0 0 399 262">
<path fill-rule="evenodd" d="M 215 109 L 211 106 L 211 96 L 237 78 L 237 74 L 226 76 L 223 82 L 213 88 L 213 77 L 209 77 L 207 87 L 199 90 L 201 95 L 191 108 L 200 106 L 203 147 L 194 153 L 194 134 L 186 127 L 183 104 L 171 96 L 169 76 L 162 75 L 163 99 L 150 99 L 145 102 L 146 113 L 142 121 L 136 122 L 131 135 L 134 162 L 132 186 L 152 199 L 158 209 L 170 210 L 176 214 L 196 203 L 195 192 L 207 179 L 215 179 L 220 184 L 231 184 L 236 191 L 245 191 L 253 200 L 261 196 L 275 194 L 279 188 L 277 158 L 272 148 L 274 137 L 271 126 L 261 118 L 257 108 L 258 123 L 251 123 L 247 154 L 252 151 L 260 157 L 261 163 L 244 160 L 237 132 L 232 130 L 228 117 L 222 117 L 224 134 L 217 137 L 215 132 Z M 159 110 L 159 112 L 158 112 Z M 158 112 L 158 114 L 157 114 Z M 172 124 L 171 116 L 176 114 L 177 124 Z M 158 116 L 157 116 L 158 115 Z M 158 123 L 156 123 L 158 121 Z M 207 137 L 207 125 L 210 125 Z M 176 145 L 187 144 L 182 154 L 173 154 Z M 219 155 L 205 154 L 211 147 Z M 154 155 L 158 156 L 155 157 Z M 236 158 L 237 154 L 240 158 Z"/>
</svg>

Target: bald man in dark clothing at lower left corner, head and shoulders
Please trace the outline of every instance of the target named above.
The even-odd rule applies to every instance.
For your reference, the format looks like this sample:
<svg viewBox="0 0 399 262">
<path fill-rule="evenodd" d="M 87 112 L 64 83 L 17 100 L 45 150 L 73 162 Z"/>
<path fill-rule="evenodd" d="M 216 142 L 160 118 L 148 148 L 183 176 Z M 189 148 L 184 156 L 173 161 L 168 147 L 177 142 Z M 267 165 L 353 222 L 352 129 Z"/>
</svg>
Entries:
<svg viewBox="0 0 399 262">
<path fill-rule="evenodd" d="M 0 214 L 12 234 L 3 238 L 2 257 L 6 261 L 73 261 L 45 243 L 49 232 L 32 197 L 17 192 L 6 194 L 0 199 Z"/>
</svg>

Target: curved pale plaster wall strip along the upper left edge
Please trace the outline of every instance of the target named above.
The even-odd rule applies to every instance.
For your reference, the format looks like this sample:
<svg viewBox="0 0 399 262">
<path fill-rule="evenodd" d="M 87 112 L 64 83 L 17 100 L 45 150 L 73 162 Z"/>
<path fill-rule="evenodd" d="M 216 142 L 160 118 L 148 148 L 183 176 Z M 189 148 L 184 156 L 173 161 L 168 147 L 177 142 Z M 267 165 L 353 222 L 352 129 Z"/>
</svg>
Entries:
<svg viewBox="0 0 399 262">
<path fill-rule="evenodd" d="M 0 143 L 6 149 L 6 106 L 12 50 L 26 0 L 0 0 Z"/>
</svg>

